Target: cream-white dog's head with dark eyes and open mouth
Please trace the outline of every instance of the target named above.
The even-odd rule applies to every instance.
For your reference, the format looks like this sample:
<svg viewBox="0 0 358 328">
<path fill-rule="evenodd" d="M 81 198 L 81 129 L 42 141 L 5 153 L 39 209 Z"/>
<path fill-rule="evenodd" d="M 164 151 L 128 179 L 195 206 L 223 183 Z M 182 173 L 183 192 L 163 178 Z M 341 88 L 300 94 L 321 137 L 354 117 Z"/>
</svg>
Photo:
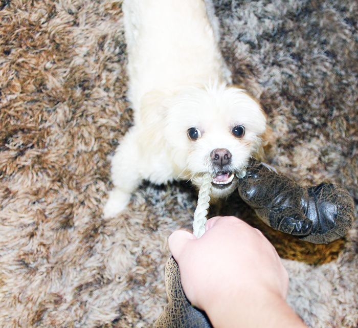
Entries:
<svg viewBox="0 0 358 328">
<path fill-rule="evenodd" d="M 165 138 L 180 178 L 200 186 L 213 177 L 212 196 L 230 194 L 236 175 L 259 150 L 266 117 L 255 100 L 225 86 L 189 88 L 174 97 L 166 111 Z"/>
</svg>

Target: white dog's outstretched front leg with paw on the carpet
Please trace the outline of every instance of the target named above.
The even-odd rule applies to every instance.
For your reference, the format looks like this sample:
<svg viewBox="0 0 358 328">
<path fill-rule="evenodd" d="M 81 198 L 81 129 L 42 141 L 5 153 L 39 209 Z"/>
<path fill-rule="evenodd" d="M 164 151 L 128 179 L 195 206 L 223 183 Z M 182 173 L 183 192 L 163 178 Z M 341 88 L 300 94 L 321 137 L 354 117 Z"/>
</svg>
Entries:
<svg viewBox="0 0 358 328">
<path fill-rule="evenodd" d="M 111 160 L 111 176 L 114 189 L 104 206 L 104 217 L 114 217 L 129 203 L 131 193 L 142 180 L 140 173 L 140 149 L 136 140 L 136 128 L 133 127 L 116 149 Z"/>
</svg>

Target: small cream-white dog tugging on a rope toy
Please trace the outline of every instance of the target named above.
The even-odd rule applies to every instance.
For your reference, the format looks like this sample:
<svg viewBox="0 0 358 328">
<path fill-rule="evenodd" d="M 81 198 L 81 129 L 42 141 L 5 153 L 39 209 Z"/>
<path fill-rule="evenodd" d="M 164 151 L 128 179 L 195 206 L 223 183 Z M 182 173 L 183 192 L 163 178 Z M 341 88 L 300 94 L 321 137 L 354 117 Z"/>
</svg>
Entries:
<svg viewBox="0 0 358 328">
<path fill-rule="evenodd" d="M 266 117 L 230 85 L 208 18 L 212 7 L 204 0 L 124 0 L 122 8 L 135 122 L 111 161 L 115 188 L 104 215 L 124 209 L 143 179 L 200 186 L 210 172 L 211 196 L 229 195 L 261 149 Z"/>
</svg>

